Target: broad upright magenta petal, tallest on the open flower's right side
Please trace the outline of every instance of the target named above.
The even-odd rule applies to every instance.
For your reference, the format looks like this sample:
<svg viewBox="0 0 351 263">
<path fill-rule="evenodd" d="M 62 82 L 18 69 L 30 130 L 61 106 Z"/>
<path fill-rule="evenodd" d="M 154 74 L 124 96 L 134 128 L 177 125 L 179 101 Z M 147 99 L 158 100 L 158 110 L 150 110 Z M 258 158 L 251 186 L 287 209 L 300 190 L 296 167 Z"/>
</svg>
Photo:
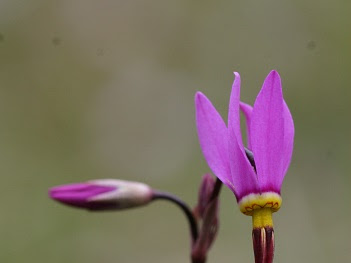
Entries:
<svg viewBox="0 0 351 263">
<path fill-rule="evenodd" d="M 261 191 L 280 193 L 284 178 L 284 103 L 278 72 L 271 71 L 258 94 L 251 119 L 251 146 Z"/>
</svg>

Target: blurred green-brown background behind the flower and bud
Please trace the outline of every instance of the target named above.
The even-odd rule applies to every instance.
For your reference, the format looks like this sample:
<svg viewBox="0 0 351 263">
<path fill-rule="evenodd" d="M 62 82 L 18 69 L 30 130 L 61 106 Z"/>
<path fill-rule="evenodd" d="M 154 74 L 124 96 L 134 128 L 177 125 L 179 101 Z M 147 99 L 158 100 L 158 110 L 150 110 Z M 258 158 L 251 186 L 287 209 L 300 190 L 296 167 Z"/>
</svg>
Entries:
<svg viewBox="0 0 351 263">
<path fill-rule="evenodd" d="M 0 262 L 189 262 L 188 228 L 155 202 L 64 207 L 49 187 L 143 181 L 194 205 L 209 171 L 203 91 L 226 118 L 233 81 L 253 103 L 271 69 L 295 150 L 275 214 L 275 262 L 351 262 L 351 2 L 0 1 Z M 223 189 L 209 262 L 253 262 L 251 219 Z"/>
</svg>

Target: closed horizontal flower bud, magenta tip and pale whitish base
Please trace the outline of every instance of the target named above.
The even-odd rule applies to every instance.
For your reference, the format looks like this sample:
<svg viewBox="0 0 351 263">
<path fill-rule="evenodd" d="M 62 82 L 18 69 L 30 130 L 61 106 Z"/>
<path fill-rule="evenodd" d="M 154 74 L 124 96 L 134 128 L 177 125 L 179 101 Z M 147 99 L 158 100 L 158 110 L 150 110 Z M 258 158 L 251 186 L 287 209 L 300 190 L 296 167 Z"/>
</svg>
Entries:
<svg viewBox="0 0 351 263">
<path fill-rule="evenodd" d="M 143 183 L 103 179 L 53 187 L 49 196 L 88 210 L 119 210 L 148 204 L 152 189 Z"/>
</svg>

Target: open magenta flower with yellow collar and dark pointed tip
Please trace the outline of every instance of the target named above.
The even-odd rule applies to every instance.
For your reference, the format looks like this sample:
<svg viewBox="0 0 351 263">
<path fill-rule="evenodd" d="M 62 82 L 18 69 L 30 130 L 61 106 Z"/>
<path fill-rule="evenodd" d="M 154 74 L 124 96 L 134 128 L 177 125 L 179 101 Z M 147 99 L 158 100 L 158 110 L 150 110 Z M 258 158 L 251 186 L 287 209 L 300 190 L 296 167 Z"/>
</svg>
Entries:
<svg viewBox="0 0 351 263">
<path fill-rule="evenodd" d="M 240 75 L 234 74 L 228 126 L 210 100 L 196 93 L 198 136 L 213 173 L 234 193 L 240 211 L 252 216 L 255 262 L 271 263 L 272 213 L 282 202 L 280 190 L 292 156 L 294 123 L 278 72 L 267 76 L 253 108 L 240 102 Z M 240 108 L 247 121 L 249 150 L 242 141 Z"/>
</svg>

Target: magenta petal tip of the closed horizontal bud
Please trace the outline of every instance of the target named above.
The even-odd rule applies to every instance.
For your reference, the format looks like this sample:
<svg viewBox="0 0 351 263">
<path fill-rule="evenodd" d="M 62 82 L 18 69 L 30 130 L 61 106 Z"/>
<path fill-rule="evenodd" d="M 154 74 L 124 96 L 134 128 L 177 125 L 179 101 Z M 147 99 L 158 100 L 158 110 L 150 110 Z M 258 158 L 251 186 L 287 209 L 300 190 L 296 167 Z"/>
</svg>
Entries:
<svg viewBox="0 0 351 263">
<path fill-rule="evenodd" d="M 114 190 L 116 190 L 116 187 L 90 183 L 68 184 L 51 188 L 49 196 L 67 205 L 90 208 L 89 200 L 92 197 Z"/>
</svg>

